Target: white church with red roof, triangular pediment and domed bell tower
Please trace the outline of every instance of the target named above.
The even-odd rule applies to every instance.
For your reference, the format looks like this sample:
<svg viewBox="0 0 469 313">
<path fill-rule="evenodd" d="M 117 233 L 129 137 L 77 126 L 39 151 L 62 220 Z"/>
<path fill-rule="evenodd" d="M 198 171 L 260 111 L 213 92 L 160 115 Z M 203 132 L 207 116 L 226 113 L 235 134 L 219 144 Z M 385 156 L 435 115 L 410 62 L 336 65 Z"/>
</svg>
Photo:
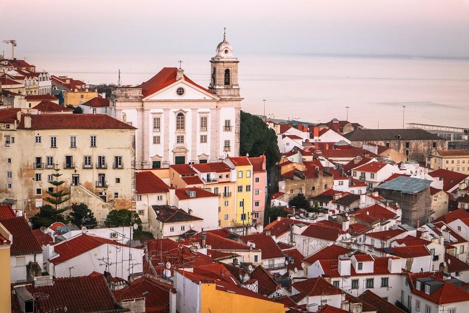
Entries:
<svg viewBox="0 0 469 313">
<path fill-rule="evenodd" d="M 137 128 L 136 169 L 239 155 L 238 63 L 225 34 L 210 59 L 207 89 L 181 66 L 165 67 L 140 86 L 113 89 L 116 118 Z"/>
</svg>

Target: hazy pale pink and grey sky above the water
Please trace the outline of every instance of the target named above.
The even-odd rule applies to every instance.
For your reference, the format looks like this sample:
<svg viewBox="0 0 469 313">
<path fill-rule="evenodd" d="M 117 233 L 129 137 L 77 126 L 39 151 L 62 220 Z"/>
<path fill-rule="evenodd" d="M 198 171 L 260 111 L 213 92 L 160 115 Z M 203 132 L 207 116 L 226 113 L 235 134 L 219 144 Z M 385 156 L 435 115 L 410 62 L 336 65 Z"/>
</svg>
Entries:
<svg viewBox="0 0 469 313">
<path fill-rule="evenodd" d="M 0 0 L 20 54 L 213 52 L 469 57 L 469 0 Z M 0 45 L 0 51 L 9 47 Z"/>
</svg>

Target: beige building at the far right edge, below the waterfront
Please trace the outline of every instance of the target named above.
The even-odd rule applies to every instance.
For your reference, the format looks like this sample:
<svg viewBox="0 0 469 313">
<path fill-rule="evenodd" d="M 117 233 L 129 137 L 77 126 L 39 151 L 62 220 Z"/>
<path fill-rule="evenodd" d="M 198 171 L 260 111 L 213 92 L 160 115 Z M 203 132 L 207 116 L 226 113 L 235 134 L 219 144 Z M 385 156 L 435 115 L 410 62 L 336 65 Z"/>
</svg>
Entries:
<svg viewBox="0 0 469 313">
<path fill-rule="evenodd" d="M 464 149 L 433 149 L 427 156 L 427 167 L 469 174 L 469 153 Z"/>
</svg>

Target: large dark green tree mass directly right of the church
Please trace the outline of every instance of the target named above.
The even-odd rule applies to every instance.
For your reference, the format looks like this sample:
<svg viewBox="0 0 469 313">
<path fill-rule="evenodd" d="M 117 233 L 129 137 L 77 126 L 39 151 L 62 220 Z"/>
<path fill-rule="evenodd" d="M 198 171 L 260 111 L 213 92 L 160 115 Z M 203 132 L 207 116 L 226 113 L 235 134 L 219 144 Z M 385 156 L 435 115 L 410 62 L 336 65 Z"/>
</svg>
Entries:
<svg viewBox="0 0 469 313">
<path fill-rule="evenodd" d="M 241 111 L 239 155 L 257 157 L 266 154 L 268 168 L 280 161 L 277 135 L 261 118 Z"/>
</svg>

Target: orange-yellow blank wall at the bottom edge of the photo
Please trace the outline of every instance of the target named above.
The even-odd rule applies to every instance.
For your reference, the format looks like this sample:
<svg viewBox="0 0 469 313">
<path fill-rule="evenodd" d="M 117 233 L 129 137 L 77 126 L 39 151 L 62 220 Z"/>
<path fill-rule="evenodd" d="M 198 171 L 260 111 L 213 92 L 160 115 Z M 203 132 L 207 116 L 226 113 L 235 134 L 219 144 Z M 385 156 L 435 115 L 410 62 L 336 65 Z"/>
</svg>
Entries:
<svg viewBox="0 0 469 313">
<path fill-rule="evenodd" d="M 201 285 L 201 313 L 285 313 L 283 304 L 216 290 L 215 284 Z"/>
</svg>

